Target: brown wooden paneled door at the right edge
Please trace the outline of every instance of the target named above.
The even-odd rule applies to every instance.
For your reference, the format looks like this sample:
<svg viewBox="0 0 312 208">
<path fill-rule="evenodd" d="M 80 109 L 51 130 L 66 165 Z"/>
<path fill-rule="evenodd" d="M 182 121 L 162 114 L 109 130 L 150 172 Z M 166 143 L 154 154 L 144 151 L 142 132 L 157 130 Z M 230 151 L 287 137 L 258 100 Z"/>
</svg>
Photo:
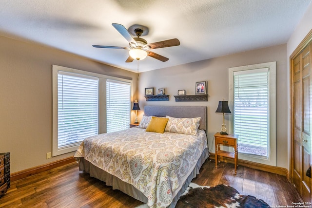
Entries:
<svg viewBox="0 0 312 208">
<path fill-rule="evenodd" d="M 292 182 L 305 202 L 311 201 L 312 44 L 291 60 Z"/>
</svg>

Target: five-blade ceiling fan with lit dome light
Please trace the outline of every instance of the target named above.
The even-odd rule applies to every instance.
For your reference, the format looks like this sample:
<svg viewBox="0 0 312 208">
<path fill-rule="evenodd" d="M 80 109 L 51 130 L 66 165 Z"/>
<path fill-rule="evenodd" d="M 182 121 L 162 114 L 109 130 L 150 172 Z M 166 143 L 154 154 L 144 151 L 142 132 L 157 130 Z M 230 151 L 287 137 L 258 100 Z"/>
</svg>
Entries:
<svg viewBox="0 0 312 208">
<path fill-rule="evenodd" d="M 113 23 L 112 25 L 124 38 L 128 40 L 130 47 L 106 46 L 106 45 L 92 45 L 92 46 L 95 48 L 113 48 L 113 49 L 129 50 L 129 57 L 127 58 L 126 62 L 132 62 L 134 59 L 142 60 L 146 56 L 153 57 L 156 58 L 157 60 L 165 62 L 169 60 L 169 58 L 156 54 L 150 51 L 150 49 L 165 48 L 180 45 L 180 41 L 177 38 L 163 40 L 154 43 L 147 43 L 145 39 L 140 38 L 142 34 L 146 35 L 148 33 L 148 28 L 142 25 L 133 25 L 129 28 L 129 30 L 132 28 L 134 29 L 132 33 L 137 36 L 136 38 L 133 38 L 132 35 L 123 25 L 117 23 Z M 145 31 L 143 31 L 143 29 Z"/>
</svg>

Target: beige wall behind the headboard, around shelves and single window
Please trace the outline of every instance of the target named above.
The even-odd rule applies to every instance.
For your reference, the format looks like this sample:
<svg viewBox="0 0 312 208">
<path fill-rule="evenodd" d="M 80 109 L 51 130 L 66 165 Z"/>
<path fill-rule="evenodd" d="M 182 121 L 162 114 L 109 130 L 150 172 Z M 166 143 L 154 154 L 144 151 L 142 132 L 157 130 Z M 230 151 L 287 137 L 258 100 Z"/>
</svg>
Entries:
<svg viewBox="0 0 312 208">
<path fill-rule="evenodd" d="M 222 125 L 222 114 L 215 113 L 218 101 L 228 100 L 228 69 L 230 67 L 245 66 L 251 64 L 276 61 L 276 118 L 277 118 L 277 161 L 278 167 L 289 167 L 288 158 L 288 107 L 287 95 L 287 59 L 286 44 L 238 53 L 234 55 L 216 57 L 208 60 L 183 64 L 176 67 L 164 68 L 150 72 L 140 73 L 138 81 L 138 100 L 140 108 L 144 105 L 205 105 L 208 109 L 208 142 L 212 152 L 215 151 L 213 137 L 215 132 L 219 132 Z M 195 94 L 195 82 L 208 81 L 208 102 L 175 102 L 173 95 L 177 95 L 177 90 L 186 90 L 187 95 Z M 144 88 L 154 87 L 165 88 L 165 93 L 170 95 L 169 101 L 146 101 Z M 141 117 L 143 111 L 140 111 Z M 228 116 L 226 124 L 228 126 Z"/>
</svg>

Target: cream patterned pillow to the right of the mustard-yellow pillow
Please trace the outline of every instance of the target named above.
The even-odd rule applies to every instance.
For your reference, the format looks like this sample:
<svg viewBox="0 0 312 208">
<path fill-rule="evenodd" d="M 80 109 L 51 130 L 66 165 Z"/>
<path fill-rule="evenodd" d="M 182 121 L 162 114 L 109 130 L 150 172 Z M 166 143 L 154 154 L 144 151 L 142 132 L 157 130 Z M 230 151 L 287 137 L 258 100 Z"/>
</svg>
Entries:
<svg viewBox="0 0 312 208">
<path fill-rule="evenodd" d="M 169 118 L 167 126 L 165 128 L 166 132 L 184 133 L 197 136 L 197 129 L 199 126 L 200 117 L 175 118 L 168 115 L 166 117 Z"/>
</svg>

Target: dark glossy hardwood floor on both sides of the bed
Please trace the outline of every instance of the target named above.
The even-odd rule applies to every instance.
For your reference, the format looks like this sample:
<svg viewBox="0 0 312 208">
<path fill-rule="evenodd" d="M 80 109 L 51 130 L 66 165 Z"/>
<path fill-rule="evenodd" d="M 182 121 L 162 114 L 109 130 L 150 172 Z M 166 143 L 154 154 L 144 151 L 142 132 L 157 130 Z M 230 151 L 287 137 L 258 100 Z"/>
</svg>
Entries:
<svg viewBox="0 0 312 208">
<path fill-rule="evenodd" d="M 207 159 L 193 182 L 202 186 L 226 184 L 240 194 L 263 199 L 270 206 L 301 202 L 285 176 Z M 11 183 L 0 208 L 134 208 L 143 204 L 78 170 L 77 163 L 47 170 Z"/>
</svg>

